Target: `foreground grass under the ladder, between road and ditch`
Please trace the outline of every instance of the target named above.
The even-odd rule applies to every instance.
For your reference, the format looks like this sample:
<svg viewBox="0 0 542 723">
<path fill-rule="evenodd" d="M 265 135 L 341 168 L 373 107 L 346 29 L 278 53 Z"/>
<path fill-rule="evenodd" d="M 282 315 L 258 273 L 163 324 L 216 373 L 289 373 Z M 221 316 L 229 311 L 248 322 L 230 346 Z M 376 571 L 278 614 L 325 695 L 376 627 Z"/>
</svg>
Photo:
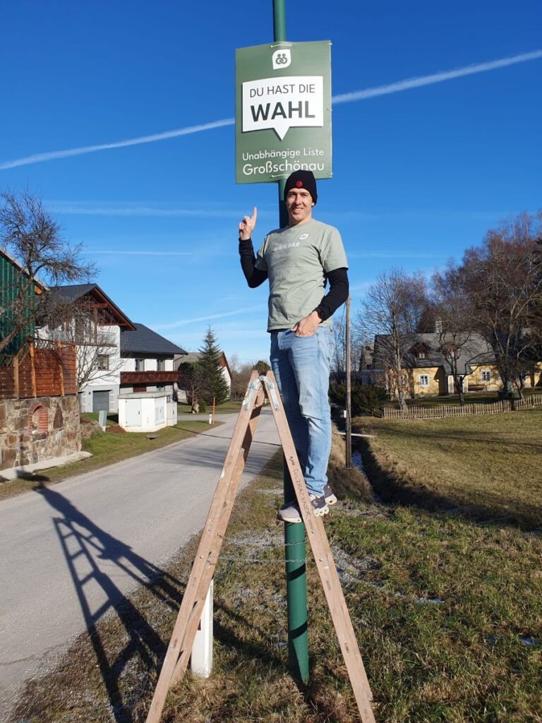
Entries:
<svg viewBox="0 0 542 723">
<path fill-rule="evenodd" d="M 305 687 L 288 675 L 283 528 L 273 521 L 281 476 L 275 458 L 236 504 L 215 574 L 213 674 L 186 678 L 168 699 L 167 723 L 358 720 L 311 562 L 311 680 Z M 377 721 L 541 722 L 541 537 L 463 515 L 375 505 L 337 457 L 332 476 L 347 499 L 326 528 Z M 61 667 L 29 683 L 17 719 L 105 723 L 113 706 L 117 722 L 143 721 L 195 542 L 92 637 L 81 636 Z"/>
</svg>

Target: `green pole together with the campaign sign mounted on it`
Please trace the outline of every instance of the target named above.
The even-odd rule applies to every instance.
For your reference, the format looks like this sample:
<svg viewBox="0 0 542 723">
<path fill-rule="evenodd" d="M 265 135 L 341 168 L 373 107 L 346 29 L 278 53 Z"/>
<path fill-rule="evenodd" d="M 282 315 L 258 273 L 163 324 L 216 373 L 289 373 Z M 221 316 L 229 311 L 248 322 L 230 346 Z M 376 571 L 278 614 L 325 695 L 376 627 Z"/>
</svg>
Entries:
<svg viewBox="0 0 542 723">
<path fill-rule="evenodd" d="M 285 181 L 293 171 L 329 179 L 331 43 L 288 43 L 284 0 L 273 0 L 273 43 L 236 50 L 236 181 L 275 183 L 280 228 L 288 224 Z M 284 501 L 296 492 L 284 463 Z M 305 526 L 285 523 L 288 663 L 309 680 Z M 291 550 L 296 555 L 291 555 Z"/>
</svg>

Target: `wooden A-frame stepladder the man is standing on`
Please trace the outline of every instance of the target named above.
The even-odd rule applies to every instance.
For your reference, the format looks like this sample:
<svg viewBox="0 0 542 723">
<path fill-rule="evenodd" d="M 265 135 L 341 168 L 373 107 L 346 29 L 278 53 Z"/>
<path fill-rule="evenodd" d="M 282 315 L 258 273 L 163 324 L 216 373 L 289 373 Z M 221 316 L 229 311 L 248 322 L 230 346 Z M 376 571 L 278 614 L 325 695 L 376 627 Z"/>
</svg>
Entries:
<svg viewBox="0 0 542 723">
<path fill-rule="evenodd" d="M 267 375 L 262 377 L 258 377 L 257 372 L 252 373 L 236 426 L 233 429 L 215 496 L 212 499 L 207 521 L 199 541 L 192 572 L 188 583 L 186 583 L 186 590 L 178 611 L 168 651 L 165 654 L 155 694 L 150 704 L 147 723 L 159 723 L 168 691 L 181 680 L 186 672 L 194 636 L 199 625 L 199 619 L 202 616 L 205 597 L 215 572 L 215 565 L 218 562 L 220 548 L 222 547 L 250 445 L 254 438 L 264 398 L 267 398 L 270 403 L 275 424 L 277 425 L 284 457 L 291 474 L 293 487 L 296 490 L 301 518 L 306 526 L 306 534 L 322 581 L 327 604 L 330 608 L 333 625 L 348 669 L 354 696 L 356 696 L 361 720 L 363 723 L 374 723 L 371 708 L 371 688 L 369 688 L 364 663 L 350 621 L 348 607 L 346 607 L 343 589 L 337 576 L 337 569 L 335 568 L 330 545 L 327 542 L 322 518 L 315 517 L 312 512 L 309 492 L 306 489 L 296 448 L 293 445 L 292 435 L 286 421 L 283 403 L 272 372 L 267 372 Z"/>
</svg>

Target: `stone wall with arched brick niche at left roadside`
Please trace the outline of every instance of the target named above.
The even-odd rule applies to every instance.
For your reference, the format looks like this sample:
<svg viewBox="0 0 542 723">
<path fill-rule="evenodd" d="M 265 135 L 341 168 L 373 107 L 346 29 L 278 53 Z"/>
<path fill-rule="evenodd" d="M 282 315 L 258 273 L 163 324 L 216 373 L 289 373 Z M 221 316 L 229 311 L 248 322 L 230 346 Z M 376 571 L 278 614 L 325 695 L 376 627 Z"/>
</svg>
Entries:
<svg viewBox="0 0 542 723">
<path fill-rule="evenodd" d="M 0 400 L 0 471 L 80 450 L 77 395 Z"/>
</svg>

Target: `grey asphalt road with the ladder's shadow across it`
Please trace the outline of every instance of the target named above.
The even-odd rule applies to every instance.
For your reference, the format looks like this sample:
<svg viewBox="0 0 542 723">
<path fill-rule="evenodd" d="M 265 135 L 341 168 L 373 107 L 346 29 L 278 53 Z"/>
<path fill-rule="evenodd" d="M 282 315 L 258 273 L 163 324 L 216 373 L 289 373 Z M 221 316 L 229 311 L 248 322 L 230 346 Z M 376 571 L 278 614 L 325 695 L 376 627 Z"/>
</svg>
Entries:
<svg viewBox="0 0 542 723">
<path fill-rule="evenodd" d="M 0 719 L 27 677 L 202 529 L 237 415 L 220 427 L 0 502 Z M 278 449 L 262 411 L 241 485 Z"/>
</svg>

